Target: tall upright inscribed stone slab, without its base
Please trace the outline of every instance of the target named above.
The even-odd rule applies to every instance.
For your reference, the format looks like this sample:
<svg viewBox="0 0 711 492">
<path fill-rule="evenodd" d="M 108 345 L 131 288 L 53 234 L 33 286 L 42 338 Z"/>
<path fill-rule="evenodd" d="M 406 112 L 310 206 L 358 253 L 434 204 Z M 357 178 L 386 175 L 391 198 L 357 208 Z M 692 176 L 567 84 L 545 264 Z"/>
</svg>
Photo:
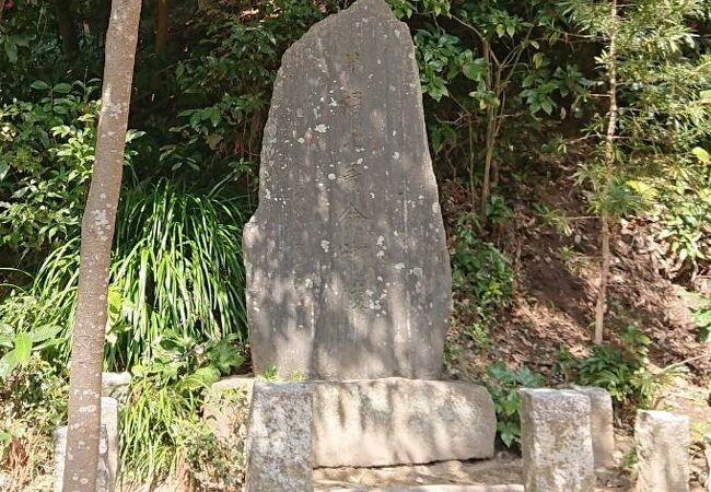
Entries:
<svg viewBox="0 0 711 492">
<path fill-rule="evenodd" d="M 255 373 L 440 376 L 451 274 L 408 27 L 359 0 L 283 56 L 244 232 Z"/>
</svg>

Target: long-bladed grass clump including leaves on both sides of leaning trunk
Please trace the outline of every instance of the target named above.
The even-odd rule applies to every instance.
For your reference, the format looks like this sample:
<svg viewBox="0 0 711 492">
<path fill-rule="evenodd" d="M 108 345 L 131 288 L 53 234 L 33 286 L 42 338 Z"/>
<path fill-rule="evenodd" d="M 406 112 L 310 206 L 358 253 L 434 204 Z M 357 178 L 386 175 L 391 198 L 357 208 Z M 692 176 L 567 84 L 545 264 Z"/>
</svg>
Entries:
<svg viewBox="0 0 711 492">
<path fill-rule="evenodd" d="M 106 366 L 130 370 L 151 358 L 164 333 L 241 343 L 246 327 L 242 206 L 161 180 L 121 202 L 108 295 Z M 16 332 L 73 326 L 79 238 L 53 250 L 33 284 L 0 303 Z M 67 361 L 68 343 L 50 348 Z"/>
</svg>

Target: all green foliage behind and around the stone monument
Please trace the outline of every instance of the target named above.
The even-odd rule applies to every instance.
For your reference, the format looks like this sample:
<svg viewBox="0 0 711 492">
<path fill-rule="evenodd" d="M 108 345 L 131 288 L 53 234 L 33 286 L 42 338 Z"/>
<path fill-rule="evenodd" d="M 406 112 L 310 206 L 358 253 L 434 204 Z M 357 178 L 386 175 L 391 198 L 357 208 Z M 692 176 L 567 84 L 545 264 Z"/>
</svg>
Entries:
<svg viewBox="0 0 711 492">
<path fill-rule="evenodd" d="M 241 231 L 256 204 L 271 84 L 287 47 L 349 3 L 176 0 L 163 45 L 156 1 L 144 1 L 105 353 L 106 370 L 136 376 L 121 415 L 129 476 L 187 466 L 196 484 L 215 471 L 199 470 L 206 459 L 194 456 L 196 443 L 212 462 L 238 461 L 198 417 L 210 383 L 248 368 Z M 463 347 L 486 354 L 518 289 L 518 259 L 501 246 L 517 220 L 515 190 L 571 162 L 590 213 L 636 218 L 665 245 L 666 277 L 690 288 L 709 274 L 708 2 L 633 2 L 617 23 L 596 0 L 389 3 L 416 43 L 435 173 L 447 184 L 453 328 L 466 338 L 451 337 L 448 359 Z M 65 419 L 100 104 L 109 1 L 57 4 L 0 0 L 0 415 L 10 430 L 0 433 L 0 464 L 8 469 L 18 469 L 19 449 L 47 456 L 47 437 Z M 601 142 L 613 62 L 620 121 L 608 176 Z M 572 234 L 564 212 L 534 207 L 561 236 Z M 706 340 L 710 312 L 708 302 L 696 309 Z M 559 376 L 605 386 L 620 405 L 649 405 L 657 380 L 643 337 L 620 330 L 619 343 L 586 356 L 561 352 Z M 494 396 L 501 441 L 515 445 L 515 389 L 543 376 L 496 364 L 479 378 Z M 45 467 L 33 459 L 23 468 L 30 476 Z"/>
</svg>

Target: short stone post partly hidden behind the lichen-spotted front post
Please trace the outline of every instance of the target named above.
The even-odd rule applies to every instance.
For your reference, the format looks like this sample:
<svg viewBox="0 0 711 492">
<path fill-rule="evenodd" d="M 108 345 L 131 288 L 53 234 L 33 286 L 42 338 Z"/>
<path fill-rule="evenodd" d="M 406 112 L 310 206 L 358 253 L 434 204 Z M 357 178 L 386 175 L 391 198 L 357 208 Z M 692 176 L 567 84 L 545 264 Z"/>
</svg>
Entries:
<svg viewBox="0 0 711 492">
<path fill-rule="evenodd" d="M 604 388 L 594 386 L 573 386 L 572 389 L 590 398 L 595 468 L 615 466 L 613 397 Z"/>
</svg>

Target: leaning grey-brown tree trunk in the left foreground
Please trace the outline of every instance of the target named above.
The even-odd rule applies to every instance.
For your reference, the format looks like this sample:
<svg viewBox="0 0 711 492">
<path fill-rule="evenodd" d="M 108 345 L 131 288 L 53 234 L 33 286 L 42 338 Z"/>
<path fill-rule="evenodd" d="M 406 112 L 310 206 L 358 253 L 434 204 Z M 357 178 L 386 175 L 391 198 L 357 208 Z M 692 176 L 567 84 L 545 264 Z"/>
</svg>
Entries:
<svg viewBox="0 0 711 492">
<path fill-rule="evenodd" d="M 77 317 L 72 335 L 65 492 L 94 492 L 108 271 L 121 185 L 141 0 L 114 0 L 96 157 L 82 218 Z"/>
</svg>

